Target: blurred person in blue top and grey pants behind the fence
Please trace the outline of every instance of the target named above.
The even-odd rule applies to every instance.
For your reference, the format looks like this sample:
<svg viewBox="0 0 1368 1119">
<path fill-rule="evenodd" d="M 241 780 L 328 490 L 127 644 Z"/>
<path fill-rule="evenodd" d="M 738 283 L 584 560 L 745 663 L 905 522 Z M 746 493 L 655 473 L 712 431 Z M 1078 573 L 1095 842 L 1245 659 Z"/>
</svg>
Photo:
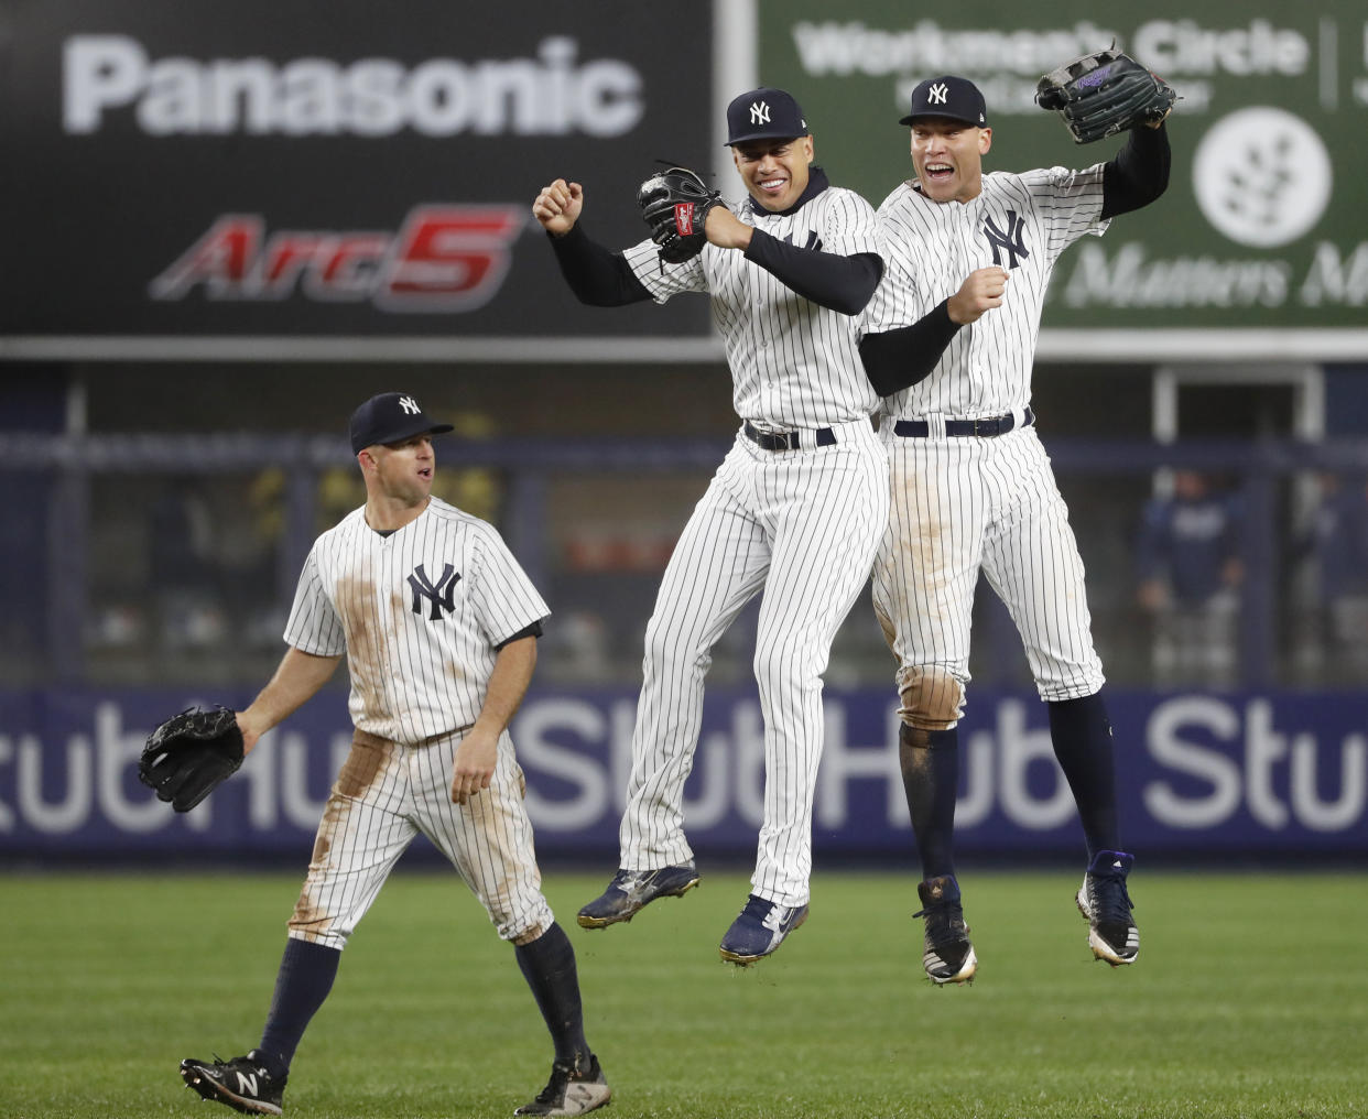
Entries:
<svg viewBox="0 0 1368 1119">
<path fill-rule="evenodd" d="M 1237 497 L 1200 471 L 1174 471 L 1172 492 L 1146 503 L 1137 555 L 1138 599 L 1155 620 L 1160 683 L 1234 681 L 1245 576 L 1239 528 Z"/>
</svg>

